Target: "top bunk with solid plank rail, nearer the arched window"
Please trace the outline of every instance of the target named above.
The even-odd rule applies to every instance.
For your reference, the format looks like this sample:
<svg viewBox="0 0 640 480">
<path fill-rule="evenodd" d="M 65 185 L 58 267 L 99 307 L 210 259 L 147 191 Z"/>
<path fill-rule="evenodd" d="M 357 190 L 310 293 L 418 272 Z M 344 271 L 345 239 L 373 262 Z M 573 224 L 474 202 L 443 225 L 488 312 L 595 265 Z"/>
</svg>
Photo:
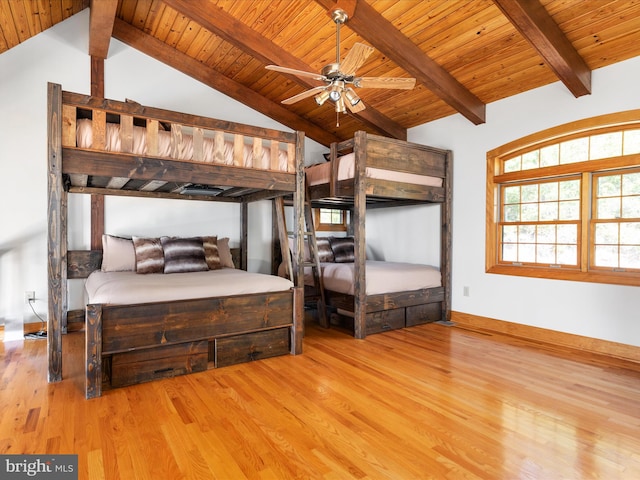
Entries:
<svg viewBox="0 0 640 480">
<path fill-rule="evenodd" d="M 351 208 L 358 195 L 367 207 L 445 203 L 452 155 L 417 143 L 366 132 L 331 144 L 326 163 L 305 169 L 314 207 Z"/>
</svg>

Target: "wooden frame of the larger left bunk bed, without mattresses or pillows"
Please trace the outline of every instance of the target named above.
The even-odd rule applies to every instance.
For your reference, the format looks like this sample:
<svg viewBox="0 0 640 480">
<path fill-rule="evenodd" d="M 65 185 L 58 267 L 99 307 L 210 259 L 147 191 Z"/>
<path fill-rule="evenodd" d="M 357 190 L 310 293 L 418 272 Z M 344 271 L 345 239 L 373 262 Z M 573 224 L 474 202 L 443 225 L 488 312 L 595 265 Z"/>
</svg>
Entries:
<svg viewBox="0 0 640 480">
<path fill-rule="evenodd" d="M 76 147 L 76 122 L 93 124 L 91 149 Z M 123 152 L 133 151 L 133 125 L 146 126 L 147 151 L 156 152 L 158 130 L 171 132 L 178 145 L 183 132 L 193 132 L 198 160 L 105 151 L 107 122 L 120 125 Z M 202 163 L 203 138 L 233 138 L 234 165 Z M 271 168 L 241 166 L 242 145 L 253 152 L 270 149 Z M 197 147 L 197 145 L 200 147 Z M 143 107 L 62 91 L 48 85 L 48 379 L 62 380 L 62 334 L 68 322 L 84 322 L 86 332 L 86 397 L 100 396 L 103 386 L 120 386 L 154 378 L 201 371 L 243 361 L 302 352 L 304 298 L 302 286 L 290 291 L 234 295 L 138 305 L 87 305 L 69 311 L 67 280 L 86 278 L 100 269 L 96 246 L 104 225 L 92 215 L 92 250 L 68 251 L 67 197 L 92 195 L 92 211 L 101 195 L 213 200 L 240 204 L 240 249 L 237 261 L 247 267 L 247 213 L 250 202 L 293 196 L 302 242 L 304 203 L 304 134 L 252 127 L 222 120 Z M 287 152 L 286 171 L 273 168 Z M 177 152 L 177 149 L 174 150 Z M 214 197 L 176 193 L 181 186 L 224 187 Z M 95 203 L 94 203 L 95 201 Z M 284 227 L 283 227 L 284 228 Z M 285 236 L 286 238 L 286 236 Z M 288 245 L 283 245 L 288 251 Z M 237 250 L 237 249 L 236 249 Z M 302 251 L 302 248 L 298 248 Z"/>
</svg>

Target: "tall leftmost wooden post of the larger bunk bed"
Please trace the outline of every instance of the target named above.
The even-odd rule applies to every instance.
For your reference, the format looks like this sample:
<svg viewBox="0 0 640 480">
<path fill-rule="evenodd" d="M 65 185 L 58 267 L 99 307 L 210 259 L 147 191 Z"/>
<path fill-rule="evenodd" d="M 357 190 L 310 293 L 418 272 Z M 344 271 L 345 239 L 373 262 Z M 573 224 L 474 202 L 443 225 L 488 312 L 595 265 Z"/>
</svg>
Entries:
<svg viewBox="0 0 640 480">
<path fill-rule="evenodd" d="M 67 310 L 67 192 L 62 182 L 62 87 L 47 85 L 47 271 L 49 382 L 62 380 L 62 330 Z"/>
</svg>

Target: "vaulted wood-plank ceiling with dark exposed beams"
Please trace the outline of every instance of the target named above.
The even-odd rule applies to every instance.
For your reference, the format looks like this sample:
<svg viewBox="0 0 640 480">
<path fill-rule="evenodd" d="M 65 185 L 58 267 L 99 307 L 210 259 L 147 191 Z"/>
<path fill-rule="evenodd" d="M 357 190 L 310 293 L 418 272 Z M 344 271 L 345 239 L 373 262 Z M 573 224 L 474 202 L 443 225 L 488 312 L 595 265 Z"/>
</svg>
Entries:
<svg viewBox="0 0 640 480">
<path fill-rule="evenodd" d="M 356 113 L 281 103 L 324 83 L 265 66 L 334 63 L 336 7 L 349 17 L 340 58 L 369 45 L 357 76 L 413 77 L 413 89 L 356 88 Z M 557 81 L 588 95 L 593 70 L 640 55 L 635 0 L 11 0 L 0 54 L 85 8 L 92 65 L 108 69 L 116 38 L 325 145 L 356 130 L 406 138 L 455 113 L 482 124 L 488 103 Z"/>
</svg>

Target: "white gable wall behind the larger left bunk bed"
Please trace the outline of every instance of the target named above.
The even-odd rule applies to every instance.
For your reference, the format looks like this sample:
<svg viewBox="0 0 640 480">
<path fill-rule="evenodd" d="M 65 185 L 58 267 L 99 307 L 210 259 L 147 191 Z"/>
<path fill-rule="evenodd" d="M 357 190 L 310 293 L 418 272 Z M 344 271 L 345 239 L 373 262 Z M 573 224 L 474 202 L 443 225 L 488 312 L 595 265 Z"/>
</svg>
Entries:
<svg viewBox="0 0 640 480">
<path fill-rule="evenodd" d="M 24 303 L 36 292 L 47 314 L 47 82 L 90 93 L 89 10 L 0 55 L 0 324 L 5 339 L 22 338 L 23 322 L 38 321 Z M 105 61 L 105 96 L 224 120 L 289 130 L 268 117 L 117 40 Z M 290 130 L 289 130 L 290 131 Z M 307 140 L 306 155 L 325 148 Z M 164 202 L 164 203 L 163 203 Z M 70 248 L 89 243 L 89 198 L 70 195 Z M 221 234 L 239 242 L 239 207 L 215 202 L 108 198 L 106 231 L 115 234 Z M 249 270 L 270 271 L 271 205 L 249 209 Z M 82 282 L 70 306 L 82 305 Z"/>
</svg>

